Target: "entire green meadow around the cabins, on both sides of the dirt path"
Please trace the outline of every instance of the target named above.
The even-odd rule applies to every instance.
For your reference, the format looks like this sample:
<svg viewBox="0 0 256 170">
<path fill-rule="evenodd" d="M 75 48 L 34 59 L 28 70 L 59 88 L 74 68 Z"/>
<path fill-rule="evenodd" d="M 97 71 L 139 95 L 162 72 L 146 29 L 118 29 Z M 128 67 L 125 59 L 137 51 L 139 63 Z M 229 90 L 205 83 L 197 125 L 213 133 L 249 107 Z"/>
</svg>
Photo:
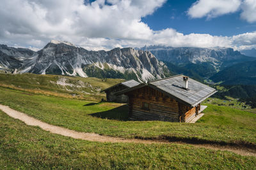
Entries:
<svg viewBox="0 0 256 170">
<path fill-rule="evenodd" d="M 28 81 L 25 81 L 27 78 L 24 75 L 29 77 Z M 256 146 L 256 114 L 232 108 L 233 105 L 222 106 L 218 104 L 221 102 L 218 99 L 205 101 L 204 104 L 208 106 L 204 111 L 205 115 L 195 124 L 129 121 L 126 104 L 99 102 L 104 94 L 97 90 L 93 91 L 91 87 L 91 94 L 84 94 L 80 87 L 78 90 L 72 89 L 73 92 L 77 92 L 77 96 L 83 96 L 77 97 L 72 96 L 72 92 L 63 85 L 47 85 L 48 81 L 57 82 L 62 76 L 8 76 L 11 76 L 10 81 L 8 77 L 0 74 L 0 104 L 52 125 L 122 138 L 165 138 L 199 143 Z M 49 77 L 56 80 L 49 80 Z M 87 81 L 92 87 L 100 89 L 122 81 L 77 79 Z M 74 78 L 70 83 L 81 84 L 77 79 Z M 40 85 L 34 85 L 34 80 L 45 83 L 40 81 Z M 95 95 L 100 97 L 93 97 Z M 194 148 L 191 145 L 113 144 L 72 139 L 51 134 L 39 127 L 28 126 L 0 111 L 0 169 L 99 168 L 255 169 L 256 158 L 243 157 L 232 152 Z"/>
</svg>

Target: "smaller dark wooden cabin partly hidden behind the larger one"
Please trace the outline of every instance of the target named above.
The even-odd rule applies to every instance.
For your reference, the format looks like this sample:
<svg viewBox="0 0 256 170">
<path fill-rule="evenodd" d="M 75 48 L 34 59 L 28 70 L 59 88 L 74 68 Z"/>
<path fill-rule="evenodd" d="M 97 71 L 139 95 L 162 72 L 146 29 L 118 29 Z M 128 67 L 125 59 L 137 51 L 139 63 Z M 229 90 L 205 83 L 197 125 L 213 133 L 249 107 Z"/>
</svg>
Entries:
<svg viewBox="0 0 256 170">
<path fill-rule="evenodd" d="M 129 89 L 137 85 L 140 85 L 138 81 L 129 80 L 129 81 L 124 81 L 122 83 L 113 85 L 108 89 L 102 90 L 102 92 L 106 92 L 107 101 L 109 102 L 128 103 L 129 101 L 128 96 L 126 96 L 125 94 L 116 95 L 116 92 L 120 92 L 122 90 Z"/>
</svg>

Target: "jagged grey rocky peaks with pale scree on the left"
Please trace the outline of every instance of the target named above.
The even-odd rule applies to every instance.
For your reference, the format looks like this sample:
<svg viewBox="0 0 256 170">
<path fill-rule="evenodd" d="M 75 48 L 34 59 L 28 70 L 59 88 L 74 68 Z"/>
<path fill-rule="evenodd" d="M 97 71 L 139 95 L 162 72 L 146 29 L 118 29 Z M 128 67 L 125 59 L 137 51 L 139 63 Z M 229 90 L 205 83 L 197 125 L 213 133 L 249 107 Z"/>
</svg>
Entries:
<svg viewBox="0 0 256 170">
<path fill-rule="evenodd" d="M 168 74 L 163 62 L 152 53 L 134 48 L 88 51 L 65 41 L 51 41 L 38 52 L 5 47 L 5 50 L 0 48 L 0 67 L 17 69 L 18 73 L 136 78 L 141 81 L 163 78 Z M 7 61 L 8 65 L 7 59 L 15 61 Z"/>
</svg>

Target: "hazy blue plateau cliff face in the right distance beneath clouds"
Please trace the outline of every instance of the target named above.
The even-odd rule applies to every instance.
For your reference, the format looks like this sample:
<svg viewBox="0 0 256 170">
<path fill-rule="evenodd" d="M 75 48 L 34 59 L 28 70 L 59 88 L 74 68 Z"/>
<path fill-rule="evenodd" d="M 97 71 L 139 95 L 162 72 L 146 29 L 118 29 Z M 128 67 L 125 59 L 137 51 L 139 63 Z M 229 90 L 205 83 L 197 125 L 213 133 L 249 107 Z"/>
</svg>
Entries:
<svg viewBox="0 0 256 170">
<path fill-rule="evenodd" d="M 232 48 L 193 48 L 179 47 L 173 48 L 168 46 L 144 46 L 140 50 L 152 52 L 157 59 L 173 64 L 182 64 L 192 62 L 194 64 L 202 62 L 211 62 L 214 66 L 230 66 L 244 60 L 251 60 Z"/>
</svg>

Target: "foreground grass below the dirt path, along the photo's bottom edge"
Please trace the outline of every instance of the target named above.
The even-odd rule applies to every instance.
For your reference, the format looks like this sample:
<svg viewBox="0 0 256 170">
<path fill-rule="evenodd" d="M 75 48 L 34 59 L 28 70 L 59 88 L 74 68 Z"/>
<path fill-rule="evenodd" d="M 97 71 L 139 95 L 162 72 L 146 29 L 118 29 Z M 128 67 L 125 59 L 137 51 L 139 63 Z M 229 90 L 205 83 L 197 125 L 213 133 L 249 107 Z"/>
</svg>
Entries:
<svg viewBox="0 0 256 170">
<path fill-rule="evenodd" d="M 175 144 L 97 143 L 43 131 L 0 111 L 0 169 L 255 169 L 255 157 Z"/>
</svg>

